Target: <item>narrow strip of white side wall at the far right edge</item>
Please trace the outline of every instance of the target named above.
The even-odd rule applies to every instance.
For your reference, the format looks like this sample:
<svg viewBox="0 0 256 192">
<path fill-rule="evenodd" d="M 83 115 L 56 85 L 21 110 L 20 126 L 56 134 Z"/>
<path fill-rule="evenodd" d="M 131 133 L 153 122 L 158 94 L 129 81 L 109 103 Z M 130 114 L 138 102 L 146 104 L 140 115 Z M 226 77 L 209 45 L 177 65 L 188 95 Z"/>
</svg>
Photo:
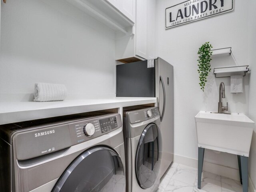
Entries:
<svg viewBox="0 0 256 192">
<path fill-rule="evenodd" d="M 248 38 L 249 38 L 249 64 L 251 66 L 251 74 L 250 74 L 250 94 L 249 94 L 249 117 L 256 122 L 256 22 L 254 16 L 254 8 L 256 7 L 256 1 L 250 0 L 249 10 L 249 26 L 248 26 Z M 249 156 L 249 174 L 254 184 L 256 186 L 256 126 L 254 128 L 254 132 L 252 135 L 252 144 L 250 149 Z"/>
</svg>

